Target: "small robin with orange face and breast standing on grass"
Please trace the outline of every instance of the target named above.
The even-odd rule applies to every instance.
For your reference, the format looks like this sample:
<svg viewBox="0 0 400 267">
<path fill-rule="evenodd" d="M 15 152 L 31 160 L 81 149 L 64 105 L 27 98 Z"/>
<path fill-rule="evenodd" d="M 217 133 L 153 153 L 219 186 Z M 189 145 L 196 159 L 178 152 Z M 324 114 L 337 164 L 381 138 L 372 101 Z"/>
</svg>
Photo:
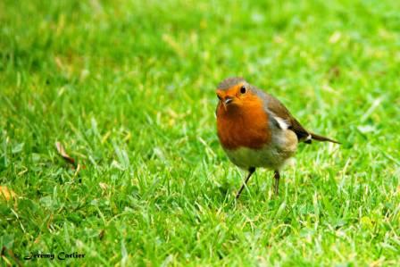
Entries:
<svg viewBox="0 0 400 267">
<path fill-rule="evenodd" d="M 340 144 L 314 134 L 298 122 L 275 97 L 242 78 L 228 78 L 217 88 L 217 131 L 229 160 L 248 171 L 245 188 L 256 168 L 274 171 L 274 192 L 279 192 L 279 171 L 296 153 L 297 144 L 312 140 Z"/>
</svg>

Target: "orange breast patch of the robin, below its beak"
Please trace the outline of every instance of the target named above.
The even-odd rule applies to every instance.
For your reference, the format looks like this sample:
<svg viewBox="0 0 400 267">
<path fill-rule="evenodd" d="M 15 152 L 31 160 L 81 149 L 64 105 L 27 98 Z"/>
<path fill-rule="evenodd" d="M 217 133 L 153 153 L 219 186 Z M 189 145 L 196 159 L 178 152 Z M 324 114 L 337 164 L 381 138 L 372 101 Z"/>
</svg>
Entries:
<svg viewBox="0 0 400 267">
<path fill-rule="evenodd" d="M 256 96 L 228 109 L 219 104 L 217 131 L 221 145 L 229 150 L 239 147 L 259 149 L 271 142 L 268 114 Z"/>
</svg>

